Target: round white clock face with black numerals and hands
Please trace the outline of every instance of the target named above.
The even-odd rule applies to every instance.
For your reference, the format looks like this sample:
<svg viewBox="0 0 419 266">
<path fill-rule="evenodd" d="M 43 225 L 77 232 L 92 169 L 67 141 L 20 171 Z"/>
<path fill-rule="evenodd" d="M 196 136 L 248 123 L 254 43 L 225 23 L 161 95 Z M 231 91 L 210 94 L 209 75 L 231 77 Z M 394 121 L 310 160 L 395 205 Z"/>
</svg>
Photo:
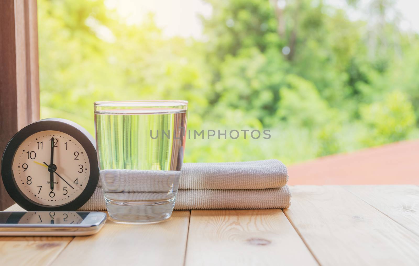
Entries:
<svg viewBox="0 0 419 266">
<path fill-rule="evenodd" d="M 51 189 L 53 170 L 54 188 Z M 58 206 L 75 200 L 83 192 L 90 176 L 90 162 L 75 138 L 60 131 L 46 130 L 21 143 L 13 158 L 12 171 L 16 185 L 29 200 Z"/>
</svg>

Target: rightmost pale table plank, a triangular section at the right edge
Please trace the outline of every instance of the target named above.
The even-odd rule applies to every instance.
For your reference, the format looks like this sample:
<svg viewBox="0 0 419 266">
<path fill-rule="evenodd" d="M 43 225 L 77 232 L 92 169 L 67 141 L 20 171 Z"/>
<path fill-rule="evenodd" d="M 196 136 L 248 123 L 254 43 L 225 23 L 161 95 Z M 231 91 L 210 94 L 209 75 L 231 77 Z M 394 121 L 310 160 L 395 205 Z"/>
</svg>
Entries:
<svg viewBox="0 0 419 266">
<path fill-rule="evenodd" d="M 419 235 L 419 186 L 344 186 L 375 209 Z"/>
</svg>

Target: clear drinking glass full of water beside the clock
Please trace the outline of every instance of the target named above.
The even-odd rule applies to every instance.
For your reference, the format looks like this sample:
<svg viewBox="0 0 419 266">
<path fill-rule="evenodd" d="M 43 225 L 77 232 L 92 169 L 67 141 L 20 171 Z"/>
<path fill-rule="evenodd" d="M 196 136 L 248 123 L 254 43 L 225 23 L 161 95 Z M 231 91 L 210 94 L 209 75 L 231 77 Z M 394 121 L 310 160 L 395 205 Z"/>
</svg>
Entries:
<svg viewBox="0 0 419 266">
<path fill-rule="evenodd" d="M 178 192 L 187 101 L 95 102 L 96 147 L 109 216 L 165 220 Z"/>
</svg>

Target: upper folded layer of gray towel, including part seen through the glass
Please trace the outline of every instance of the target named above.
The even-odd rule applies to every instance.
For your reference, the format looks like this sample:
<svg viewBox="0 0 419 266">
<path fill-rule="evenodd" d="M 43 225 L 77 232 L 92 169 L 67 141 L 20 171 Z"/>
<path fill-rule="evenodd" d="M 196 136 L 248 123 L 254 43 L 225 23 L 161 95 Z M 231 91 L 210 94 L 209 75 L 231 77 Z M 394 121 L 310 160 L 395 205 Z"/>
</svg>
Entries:
<svg viewBox="0 0 419 266">
<path fill-rule="evenodd" d="M 178 171 L 110 169 L 101 170 L 100 173 L 101 179 L 108 180 L 106 183 L 112 188 L 122 191 L 155 191 L 173 182 Z M 190 163 L 182 166 L 179 189 L 267 189 L 283 187 L 287 181 L 287 167 L 276 159 Z"/>
</svg>

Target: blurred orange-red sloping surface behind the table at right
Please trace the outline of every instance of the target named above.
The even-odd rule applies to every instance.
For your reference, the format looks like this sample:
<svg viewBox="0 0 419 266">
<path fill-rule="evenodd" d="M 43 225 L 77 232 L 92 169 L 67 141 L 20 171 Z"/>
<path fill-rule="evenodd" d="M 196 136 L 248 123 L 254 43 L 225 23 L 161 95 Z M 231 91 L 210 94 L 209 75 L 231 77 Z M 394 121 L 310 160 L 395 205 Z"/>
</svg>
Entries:
<svg viewBox="0 0 419 266">
<path fill-rule="evenodd" d="M 290 185 L 419 184 L 419 140 L 325 156 L 288 174 Z"/>
</svg>

